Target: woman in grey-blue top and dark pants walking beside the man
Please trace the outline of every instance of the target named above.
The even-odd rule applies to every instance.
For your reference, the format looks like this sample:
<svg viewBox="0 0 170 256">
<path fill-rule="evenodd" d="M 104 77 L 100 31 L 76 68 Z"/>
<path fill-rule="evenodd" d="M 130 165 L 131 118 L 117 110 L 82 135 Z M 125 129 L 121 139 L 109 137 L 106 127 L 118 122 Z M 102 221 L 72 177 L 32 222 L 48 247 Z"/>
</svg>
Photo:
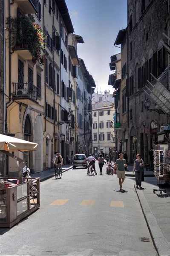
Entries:
<svg viewBox="0 0 170 256">
<path fill-rule="evenodd" d="M 142 175 L 144 175 L 142 168 L 144 166 L 144 161 L 141 159 L 140 154 L 137 154 L 136 158 L 137 159 L 135 160 L 133 165 L 133 172 L 135 170 L 136 188 L 138 189 L 139 186 L 139 189 L 141 189 Z"/>
</svg>

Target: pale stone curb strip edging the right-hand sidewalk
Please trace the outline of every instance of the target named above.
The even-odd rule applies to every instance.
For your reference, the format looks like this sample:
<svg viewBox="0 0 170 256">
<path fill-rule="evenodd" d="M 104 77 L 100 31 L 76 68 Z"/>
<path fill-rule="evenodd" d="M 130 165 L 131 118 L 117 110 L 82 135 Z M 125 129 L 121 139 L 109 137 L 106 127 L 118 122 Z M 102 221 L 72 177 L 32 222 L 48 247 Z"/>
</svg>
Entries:
<svg viewBox="0 0 170 256">
<path fill-rule="evenodd" d="M 147 227 L 149 229 L 150 236 L 152 238 L 153 245 L 156 249 L 156 252 L 158 253 L 158 256 L 170 255 L 170 247 L 167 243 L 166 238 L 164 237 L 164 234 L 161 231 L 161 228 L 158 226 L 156 217 L 153 214 L 152 210 L 150 209 L 150 206 L 147 202 L 144 193 L 142 192 L 142 190 L 136 189 L 135 185 L 134 188 L 138 196 L 138 200 L 141 205 L 141 209 L 144 214 L 144 218 L 147 223 Z"/>
</svg>

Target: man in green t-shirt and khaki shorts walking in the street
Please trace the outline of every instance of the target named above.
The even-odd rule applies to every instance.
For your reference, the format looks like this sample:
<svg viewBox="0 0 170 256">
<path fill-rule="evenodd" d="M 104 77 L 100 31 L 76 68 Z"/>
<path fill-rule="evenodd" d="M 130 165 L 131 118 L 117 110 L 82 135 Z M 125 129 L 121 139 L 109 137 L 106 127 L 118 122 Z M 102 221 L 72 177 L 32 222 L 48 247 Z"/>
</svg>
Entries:
<svg viewBox="0 0 170 256">
<path fill-rule="evenodd" d="M 115 174 L 115 169 L 118 166 L 117 176 L 118 176 L 118 179 L 119 179 L 120 191 L 123 189 L 122 188 L 122 183 L 124 182 L 124 179 L 126 178 L 124 168 L 127 166 L 127 164 L 126 164 L 126 160 L 123 157 L 124 157 L 124 155 L 122 153 L 120 153 L 119 154 L 119 159 L 116 160 L 114 170 L 113 170 L 113 174 Z"/>
</svg>

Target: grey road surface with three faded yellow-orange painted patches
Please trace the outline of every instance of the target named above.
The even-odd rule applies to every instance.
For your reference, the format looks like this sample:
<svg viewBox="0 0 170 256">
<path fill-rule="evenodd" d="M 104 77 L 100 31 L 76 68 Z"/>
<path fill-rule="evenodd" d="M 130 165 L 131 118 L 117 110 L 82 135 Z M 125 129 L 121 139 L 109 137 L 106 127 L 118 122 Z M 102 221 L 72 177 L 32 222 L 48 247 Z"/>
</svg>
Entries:
<svg viewBox="0 0 170 256">
<path fill-rule="evenodd" d="M 97 165 L 96 165 L 97 166 Z M 99 174 L 99 168 L 96 168 Z M 128 178 L 69 170 L 40 183 L 41 207 L 11 229 L 0 229 L 0 255 L 156 256 Z"/>
</svg>

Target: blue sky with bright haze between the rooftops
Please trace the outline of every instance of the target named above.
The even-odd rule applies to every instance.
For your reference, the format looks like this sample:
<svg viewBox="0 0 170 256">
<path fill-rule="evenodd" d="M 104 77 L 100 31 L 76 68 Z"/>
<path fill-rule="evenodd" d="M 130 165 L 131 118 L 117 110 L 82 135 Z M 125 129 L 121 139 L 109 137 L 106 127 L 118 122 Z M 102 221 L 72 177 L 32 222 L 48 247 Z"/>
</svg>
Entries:
<svg viewBox="0 0 170 256">
<path fill-rule="evenodd" d="M 127 27 L 127 0 L 65 0 L 76 35 L 78 57 L 84 59 L 98 92 L 113 91 L 108 85 L 110 56 L 121 52 L 114 46 L 119 30 Z M 95 90 L 97 92 L 97 89 Z"/>
</svg>

